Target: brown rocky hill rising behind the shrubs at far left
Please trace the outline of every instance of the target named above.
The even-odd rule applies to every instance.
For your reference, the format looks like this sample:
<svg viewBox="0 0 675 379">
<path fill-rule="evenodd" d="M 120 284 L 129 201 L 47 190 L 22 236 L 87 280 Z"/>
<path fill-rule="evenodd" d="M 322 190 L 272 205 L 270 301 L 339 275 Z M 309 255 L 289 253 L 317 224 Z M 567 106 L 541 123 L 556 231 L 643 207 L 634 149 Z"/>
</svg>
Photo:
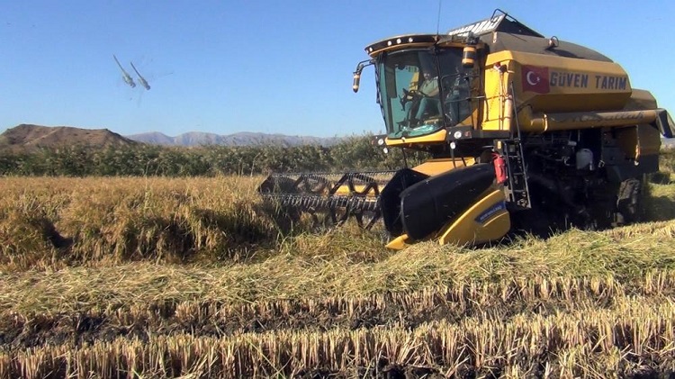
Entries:
<svg viewBox="0 0 675 379">
<path fill-rule="evenodd" d="M 70 146 L 129 146 L 138 142 L 107 129 L 80 129 L 70 126 L 21 124 L 0 134 L 0 151 L 24 152 Z"/>
</svg>

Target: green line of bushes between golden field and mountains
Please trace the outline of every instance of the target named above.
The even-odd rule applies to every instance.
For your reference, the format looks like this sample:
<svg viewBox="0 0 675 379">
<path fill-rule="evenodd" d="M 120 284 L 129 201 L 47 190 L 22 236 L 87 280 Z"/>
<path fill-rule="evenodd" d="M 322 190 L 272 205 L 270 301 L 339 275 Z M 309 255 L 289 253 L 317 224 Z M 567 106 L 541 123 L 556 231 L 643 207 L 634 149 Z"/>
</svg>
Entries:
<svg viewBox="0 0 675 379">
<path fill-rule="evenodd" d="M 30 153 L 0 153 L 0 175 L 217 176 L 403 166 L 401 149 L 390 149 L 385 154 L 372 140 L 372 136 L 350 137 L 330 147 L 185 148 L 139 144 L 99 149 L 84 146 L 40 149 Z M 419 159 L 419 154 L 408 154 L 409 161 Z"/>
</svg>

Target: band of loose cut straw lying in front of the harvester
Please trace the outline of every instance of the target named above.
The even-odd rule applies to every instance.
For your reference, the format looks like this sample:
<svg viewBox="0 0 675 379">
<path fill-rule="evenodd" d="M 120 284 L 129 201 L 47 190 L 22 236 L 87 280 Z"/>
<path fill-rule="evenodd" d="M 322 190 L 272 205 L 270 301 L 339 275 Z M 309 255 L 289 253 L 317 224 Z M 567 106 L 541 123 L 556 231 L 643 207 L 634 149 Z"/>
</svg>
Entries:
<svg viewBox="0 0 675 379">
<path fill-rule="evenodd" d="M 542 277 L 611 276 L 622 283 L 642 281 L 645 273 L 675 269 L 671 239 L 663 238 L 672 230 L 675 221 L 602 232 L 570 230 L 552 239 L 523 239 L 499 248 L 441 247 L 423 242 L 401 252 L 379 248 L 368 250 L 368 254 L 349 249 L 321 254 L 326 240 L 335 242 L 339 233 L 321 238 L 300 236 L 285 242 L 284 254 L 259 262 L 212 266 L 138 262 L 5 272 L 0 286 L 7 291 L 0 295 L 0 310 L 81 311 L 101 303 L 165 300 L 246 304 Z M 319 241 L 309 245 L 312 239 Z M 366 241 L 375 243 L 375 239 Z M 309 250 L 298 251 L 299 244 Z"/>
</svg>

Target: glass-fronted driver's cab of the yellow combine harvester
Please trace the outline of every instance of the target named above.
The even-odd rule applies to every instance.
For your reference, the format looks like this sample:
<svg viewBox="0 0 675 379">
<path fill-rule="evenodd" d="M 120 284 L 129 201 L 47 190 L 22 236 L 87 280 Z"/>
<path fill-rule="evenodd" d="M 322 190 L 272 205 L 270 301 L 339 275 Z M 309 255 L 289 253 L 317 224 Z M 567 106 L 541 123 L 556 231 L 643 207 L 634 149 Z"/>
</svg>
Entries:
<svg viewBox="0 0 675 379">
<path fill-rule="evenodd" d="M 470 126 L 469 101 L 478 90 L 474 86 L 472 94 L 471 86 L 479 71 L 462 64 L 461 45 L 441 43 L 437 35 L 396 38 L 401 40 L 427 41 L 430 47 L 389 51 L 377 44 L 369 47 L 379 54 L 374 64 L 382 80 L 378 93 L 388 137 L 414 138 L 450 125 Z"/>
</svg>

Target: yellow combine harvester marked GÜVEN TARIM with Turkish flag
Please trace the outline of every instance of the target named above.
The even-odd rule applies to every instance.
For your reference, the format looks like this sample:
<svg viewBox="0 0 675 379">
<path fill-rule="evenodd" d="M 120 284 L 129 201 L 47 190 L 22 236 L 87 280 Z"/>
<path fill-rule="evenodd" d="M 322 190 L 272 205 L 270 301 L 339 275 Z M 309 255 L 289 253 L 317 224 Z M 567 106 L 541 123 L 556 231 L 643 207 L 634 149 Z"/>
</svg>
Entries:
<svg viewBox="0 0 675 379">
<path fill-rule="evenodd" d="M 419 240 L 482 244 L 509 230 L 544 233 L 635 221 L 660 134 L 675 124 L 599 52 L 545 38 L 500 10 L 446 34 L 365 48 L 387 134 L 383 148 L 430 154 L 396 172 L 272 175 L 266 199 L 293 210 L 380 218 L 389 248 Z"/>
</svg>

